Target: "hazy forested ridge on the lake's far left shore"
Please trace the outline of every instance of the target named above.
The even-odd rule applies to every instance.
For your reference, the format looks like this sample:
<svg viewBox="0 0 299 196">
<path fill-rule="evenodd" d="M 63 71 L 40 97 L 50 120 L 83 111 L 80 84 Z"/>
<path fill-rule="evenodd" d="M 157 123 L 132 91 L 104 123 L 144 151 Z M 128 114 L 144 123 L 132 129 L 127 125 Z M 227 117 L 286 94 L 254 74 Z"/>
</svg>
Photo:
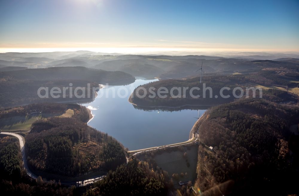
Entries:
<svg viewBox="0 0 299 196">
<path fill-rule="evenodd" d="M 94 97 L 92 88 L 98 87 L 99 84 L 129 84 L 134 81 L 135 78 L 125 72 L 85 67 L 51 67 L 0 72 L 0 108 L 37 102 L 92 101 Z M 69 92 L 70 83 L 72 92 Z M 87 89 L 89 83 L 90 89 Z M 50 94 L 48 98 L 40 98 L 37 94 L 40 87 L 48 88 L 49 93 L 53 87 L 58 87 L 61 92 L 63 87 L 66 87 L 66 96 L 64 98 L 60 93 L 59 98 L 53 98 Z M 76 87 L 86 88 L 83 98 L 76 98 Z M 43 91 L 42 95 L 44 94 Z M 78 94 L 82 95 L 82 91 L 79 90 Z"/>
</svg>

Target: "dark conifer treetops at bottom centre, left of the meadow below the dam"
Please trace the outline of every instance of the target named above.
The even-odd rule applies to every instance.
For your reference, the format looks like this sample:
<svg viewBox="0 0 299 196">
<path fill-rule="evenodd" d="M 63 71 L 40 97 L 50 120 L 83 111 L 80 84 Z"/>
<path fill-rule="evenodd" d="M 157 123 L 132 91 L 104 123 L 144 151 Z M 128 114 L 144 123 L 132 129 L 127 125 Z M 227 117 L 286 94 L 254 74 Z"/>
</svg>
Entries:
<svg viewBox="0 0 299 196">
<path fill-rule="evenodd" d="M 161 173 L 150 170 L 148 163 L 133 158 L 114 172 L 109 171 L 103 180 L 96 182 L 84 195 L 164 196 L 167 195 L 167 186 Z"/>
</svg>

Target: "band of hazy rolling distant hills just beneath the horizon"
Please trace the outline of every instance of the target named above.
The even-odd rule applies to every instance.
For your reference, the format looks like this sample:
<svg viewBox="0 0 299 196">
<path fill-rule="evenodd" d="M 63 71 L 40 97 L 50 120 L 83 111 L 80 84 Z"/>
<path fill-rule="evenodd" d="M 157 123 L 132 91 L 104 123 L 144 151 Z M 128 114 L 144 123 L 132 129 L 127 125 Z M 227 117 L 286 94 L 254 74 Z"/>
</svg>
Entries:
<svg viewBox="0 0 299 196">
<path fill-rule="evenodd" d="M 182 53 L 183 54 L 183 53 Z M 298 66 L 297 54 L 289 53 L 219 53 L 214 55 L 120 55 L 91 51 L 53 53 L 0 53 L 0 64 L 28 68 L 89 67 L 123 71 L 134 76 L 187 78 L 203 62 L 205 74 L 252 73 L 271 66 Z M 299 56 L 298 56 L 299 57 Z M 273 68 L 273 67 L 272 67 Z"/>
</svg>

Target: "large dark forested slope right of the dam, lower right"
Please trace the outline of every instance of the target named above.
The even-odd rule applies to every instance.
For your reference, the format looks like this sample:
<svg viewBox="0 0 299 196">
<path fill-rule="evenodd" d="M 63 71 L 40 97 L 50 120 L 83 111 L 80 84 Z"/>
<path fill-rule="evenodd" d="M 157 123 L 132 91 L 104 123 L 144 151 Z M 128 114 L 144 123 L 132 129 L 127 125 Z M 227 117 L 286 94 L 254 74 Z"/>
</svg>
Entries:
<svg viewBox="0 0 299 196">
<path fill-rule="evenodd" d="M 240 100 L 211 108 L 199 127 L 202 146 L 197 186 L 206 190 L 235 180 L 235 195 L 246 195 L 245 190 L 253 188 L 263 190 L 259 194 L 294 194 L 298 180 L 288 179 L 298 175 L 295 141 L 299 138 L 289 127 L 298 121 L 299 109 L 264 100 Z M 206 146 L 213 146 L 214 152 Z M 283 189 L 271 189 L 276 186 Z"/>
</svg>

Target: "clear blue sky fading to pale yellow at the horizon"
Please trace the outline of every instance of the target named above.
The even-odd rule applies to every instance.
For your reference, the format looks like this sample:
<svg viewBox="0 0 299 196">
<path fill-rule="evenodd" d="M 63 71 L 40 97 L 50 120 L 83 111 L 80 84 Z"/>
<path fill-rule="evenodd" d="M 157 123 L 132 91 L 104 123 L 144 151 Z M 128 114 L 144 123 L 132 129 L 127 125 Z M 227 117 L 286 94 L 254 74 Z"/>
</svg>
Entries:
<svg viewBox="0 0 299 196">
<path fill-rule="evenodd" d="M 298 10 L 299 0 L 0 0 L 0 52 L 299 52 Z"/>
</svg>

